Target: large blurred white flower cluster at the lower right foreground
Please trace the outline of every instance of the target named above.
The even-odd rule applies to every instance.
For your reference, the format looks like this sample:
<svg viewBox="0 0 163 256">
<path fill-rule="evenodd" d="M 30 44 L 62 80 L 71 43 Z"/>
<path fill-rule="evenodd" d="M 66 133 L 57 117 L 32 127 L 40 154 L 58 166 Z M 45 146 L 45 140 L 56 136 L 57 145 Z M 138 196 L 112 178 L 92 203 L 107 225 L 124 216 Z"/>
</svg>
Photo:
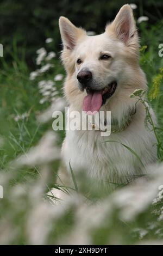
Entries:
<svg viewBox="0 0 163 256">
<path fill-rule="evenodd" d="M 157 175 L 152 173 L 153 169 L 157 168 Z M 136 215 L 139 215 L 149 205 L 152 205 L 153 199 L 158 193 L 158 187 L 163 184 L 162 175 L 163 165 L 148 167 L 148 173 L 153 177 L 153 180 L 135 183 L 134 186 L 124 187 L 120 191 L 112 194 L 114 204 L 121 208 L 121 218 L 126 221 L 132 220 Z"/>
</svg>

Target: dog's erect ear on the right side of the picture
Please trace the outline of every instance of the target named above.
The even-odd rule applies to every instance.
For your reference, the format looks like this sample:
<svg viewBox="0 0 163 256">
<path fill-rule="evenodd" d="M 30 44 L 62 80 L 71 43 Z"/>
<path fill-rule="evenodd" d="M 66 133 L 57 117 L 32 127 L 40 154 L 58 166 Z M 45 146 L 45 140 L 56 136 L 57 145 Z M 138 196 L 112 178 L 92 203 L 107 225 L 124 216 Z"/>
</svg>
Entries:
<svg viewBox="0 0 163 256">
<path fill-rule="evenodd" d="M 111 26 L 113 26 L 117 38 L 123 41 L 125 44 L 128 44 L 130 39 L 133 38 L 134 34 L 137 33 L 133 10 L 129 4 L 123 5 Z"/>
</svg>

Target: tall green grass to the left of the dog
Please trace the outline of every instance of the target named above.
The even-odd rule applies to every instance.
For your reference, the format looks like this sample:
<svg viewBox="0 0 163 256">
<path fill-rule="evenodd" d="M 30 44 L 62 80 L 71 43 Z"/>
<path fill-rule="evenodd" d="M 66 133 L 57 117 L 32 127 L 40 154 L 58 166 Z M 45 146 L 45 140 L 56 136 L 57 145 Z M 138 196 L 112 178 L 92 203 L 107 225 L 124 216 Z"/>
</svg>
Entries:
<svg viewBox="0 0 163 256">
<path fill-rule="evenodd" d="M 5 59 L 2 60 L 2 70 L 0 76 L 1 83 L 1 134 L 9 140 L 8 150 L 10 159 L 14 159 L 23 150 L 39 141 L 43 133 L 52 124 L 40 125 L 36 119 L 37 114 L 41 113 L 51 104 L 45 102 L 43 105 L 39 103 L 41 95 L 37 86 L 38 81 L 30 81 L 30 70 L 24 58 L 18 59 L 15 56 L 13 62 L 8 64 Z M 48 74 L 48 79 L 53 79 L 59 72 L 63 72 L 61 64 L 58 60 L 54 61 L 55 70 Z M 46 79 L 46 77 L 41 78 Z M 61 93 L 61 82 L 58 83 Z M 17 115 L 28 113 L 28 117 L 23 120 L 15 121 Z M 17 141 L 17 143 L 14 142 Z M 21 149 L 22 148 L 22 149 Z M 12 151 L 13 150 L 13 151 Z M 9 161 L 9 158 L 7 161 Z"/>
</svg>

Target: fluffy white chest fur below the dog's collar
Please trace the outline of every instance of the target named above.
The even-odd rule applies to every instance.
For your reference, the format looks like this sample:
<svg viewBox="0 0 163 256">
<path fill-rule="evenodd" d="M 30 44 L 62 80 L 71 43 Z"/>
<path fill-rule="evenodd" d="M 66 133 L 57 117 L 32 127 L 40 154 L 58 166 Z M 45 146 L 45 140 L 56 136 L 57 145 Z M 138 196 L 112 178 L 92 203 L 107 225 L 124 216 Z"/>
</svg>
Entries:
<svg viewBox="0 0 163 256">
<path fill-rule="evenodd" d="M 109 137 L 100 136 L 99 131 L 67 131 L 62 156 L 66 167 L 69 168 L 70 162 L 74 172 L 86 170 L 98 180 L 128 182 L 145 173 L 145 168 L 121 143 L 134 150 L 145 166 L 156 159 L 154 134 L 145 128 L 142 109 L 126 130 Z"/>
</svg>

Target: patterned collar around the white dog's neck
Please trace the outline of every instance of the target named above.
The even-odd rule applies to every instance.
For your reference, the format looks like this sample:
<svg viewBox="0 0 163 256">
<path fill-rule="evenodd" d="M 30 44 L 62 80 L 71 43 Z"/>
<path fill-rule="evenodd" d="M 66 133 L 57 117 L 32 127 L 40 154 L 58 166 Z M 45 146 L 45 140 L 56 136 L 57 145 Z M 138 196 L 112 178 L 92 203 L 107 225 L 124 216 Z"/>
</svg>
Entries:
<svg viewBox="0 0 163 256">
<path fill-rule="evenodd" d="M 118 133 L 118 132 L 122 132 L 122 131 L 126 130 L 127 127 L 130 125 L 131 121 L 133 120 L 133 116 L 135 114 L 136 114 L 136 108 L 131 109 L 128 116 L 123 119 L 121 124 L 118 124 L 117 119 L 113 119 L 111 121 L 111 133 Z M 97 127 L 97 125 L 95 123 L 91 123 L 91 126 L 92 126 L 93 130 L 95 130 L 95 127 Z M 98 130 L 101 131 L 100 128 Z"/>
</svg>

